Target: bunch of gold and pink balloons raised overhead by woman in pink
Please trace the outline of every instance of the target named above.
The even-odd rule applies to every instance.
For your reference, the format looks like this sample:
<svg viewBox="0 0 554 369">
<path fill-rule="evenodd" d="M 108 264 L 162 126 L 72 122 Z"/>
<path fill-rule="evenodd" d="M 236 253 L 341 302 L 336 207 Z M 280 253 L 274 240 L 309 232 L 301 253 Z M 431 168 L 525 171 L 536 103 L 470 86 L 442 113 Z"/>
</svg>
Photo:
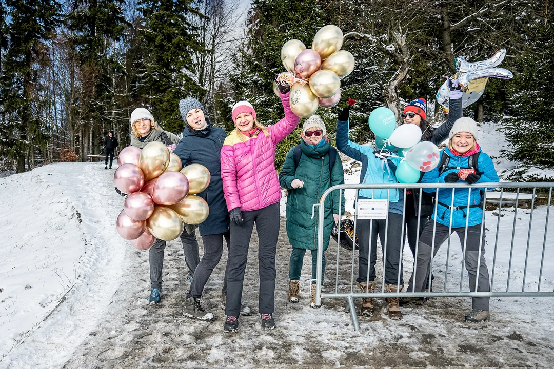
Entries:
<svg viewBox="0 0 554 369">
<path fill-rule="evenodd" d="M 290 107 L 296 116 L 307 118 L 318 107 L 330 108 L 341 98 L 341 79 L 354 69 L 354 56 L 341 50 L 342 31 L 336 25 L 320 28 L 311 49 L 299 40 L 289 40 L 281 48 L 281 61 L 288 72 L 277 81 L 290 88 Z M 279 95 L 276 83 L 274 91 Z"/>
</svg>

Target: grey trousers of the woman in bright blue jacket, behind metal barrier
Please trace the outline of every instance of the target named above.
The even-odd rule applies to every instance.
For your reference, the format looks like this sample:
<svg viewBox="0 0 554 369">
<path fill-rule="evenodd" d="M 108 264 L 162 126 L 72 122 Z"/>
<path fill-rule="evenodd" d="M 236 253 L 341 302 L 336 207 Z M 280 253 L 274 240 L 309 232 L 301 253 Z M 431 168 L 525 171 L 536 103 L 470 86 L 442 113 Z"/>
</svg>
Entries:
<svg viewBox="0 0 554 369">
<path fill-rule="evenodd" d="M 413 273 L 410 278 L 410 287 L 408 292 L 424 292 L 425 288 L 429 285 L 429 267 L 431 262 L 431 251 L 433 243 L 433 221 L 429 221 L 421 236 L 419 236 L 419 246 L 417 250 L 417 269 L 416 269 L 416 282 L 412 284 Z M 435 232 L 435 245 L 433 257 L 439 251 L 440 245 L 448 239 L 452 232 L 456 232 L 460 238 L 461 247 L 464 247 L 465 227 L 452 228 L 452 232 L 448 232 L 449 227 L 443 226 L 437 223 L 437 229 Z M 480 238 L 481 225 L 475 225 L 468 227 L 467 241 L 465 246 L 465 268 L 468 269 L 469 276 L 469 290 L 475 291 L 475 280 L 478 279 L 477 290 L 489 292 L 489 269 L 485 262 L 485 227 L 483 225 L 483 237 Z M 481 256 L 479 257 L 479 243 L 481 244 Z M 479 262 L 479 277 L 477 275 L 477 264 Z M 473 297 L 471 302 L 473 303 L 473 309 L 489 310 L 488 297 Z"/>
</svg>

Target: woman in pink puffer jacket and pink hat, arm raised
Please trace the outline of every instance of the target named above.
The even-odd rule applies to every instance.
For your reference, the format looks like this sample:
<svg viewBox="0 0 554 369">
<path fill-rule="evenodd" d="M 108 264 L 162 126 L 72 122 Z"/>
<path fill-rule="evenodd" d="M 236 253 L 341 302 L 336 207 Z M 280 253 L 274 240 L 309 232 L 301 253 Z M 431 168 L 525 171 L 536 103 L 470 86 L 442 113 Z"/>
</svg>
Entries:
<svg viewBox="0 0 554 369">
<path fill-rule="evenodd" d="M 258 231 L 260 273 L 258 312 L 261 328 L 274 329 L 275 254 L 279 236 L 281 187 L 275 170 L 277 144 L 298 125 L 300 119 L 289 106 L 288 88 L 279 85 L 285 117 L 264 127 L 247 101 L 239 101 L 231 113 L 237 128 L 221 149 L 221 179 L 230 211 L 231 256 L 227 271 L 225 332 L 238 331 L 244 271 L 254 223 Z M 286 93 L 283 93 L 286 92 Z"/>
</svg>

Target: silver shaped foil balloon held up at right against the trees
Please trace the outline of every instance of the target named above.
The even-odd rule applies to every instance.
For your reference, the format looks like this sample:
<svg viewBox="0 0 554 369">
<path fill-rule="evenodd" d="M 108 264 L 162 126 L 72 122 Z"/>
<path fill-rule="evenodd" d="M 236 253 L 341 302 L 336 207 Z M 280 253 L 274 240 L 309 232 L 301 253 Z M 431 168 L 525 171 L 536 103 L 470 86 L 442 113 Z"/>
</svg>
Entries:
<svg viewBox="0 0 554 369">
<path fill-rule="evenodd" d="M 458 56 L 454 60 L 456 66 L 456 74 L 453 78 L 458 77 L 460 85 L 463 86 L 464 96 L 461 98 L 461 107 L 465 108 L 479 100 L 479 97 L 485 92 L 486 82 L 489 77 L 511 79 L 514 75 L 507 69 L 497 68 L 504 57 L 506 49 L 496 51 L 489 59 L 468 63 L 464 58 Z M 437 102 L 443 106 L 443 111 L 448 113 L 449 89 L 447 82 L 440 86 L 437 92 Z"/>
</svg>

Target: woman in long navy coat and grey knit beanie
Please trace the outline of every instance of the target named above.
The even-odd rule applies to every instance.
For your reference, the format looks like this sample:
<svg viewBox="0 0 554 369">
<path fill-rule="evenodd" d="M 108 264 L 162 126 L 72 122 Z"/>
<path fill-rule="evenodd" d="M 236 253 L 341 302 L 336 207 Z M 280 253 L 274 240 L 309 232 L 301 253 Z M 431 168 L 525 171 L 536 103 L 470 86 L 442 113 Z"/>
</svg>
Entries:
<svg viewBox="0 0 554 369">
<path fill-rule="evenodd" d="M 222 256 L 223 240 L 227 243 L 227 250 L 230 250 L 229 212 L 223 194 L 220 165 L 220 151 L 227 133 L 219 127 L 212 126 L 212 123 L 206 117 L 204 107 L 196 98 L 187 97 L 179 101 L 179 110 L 183 120 L 187 122 L 187 127 L 184 129 L 183 138 L 173 153 L 181 158 L 183 168 L 189 164 L 201 164 L 209 170 L 212 177 L 208 188 L 197 194 L 208 203 L 209 215 L 199 225 L 204 255 L 194 272 L 191 288 L 185 300 L 183 316 L 211 321 L 214 316 L 203 308 L 200 299 L 204 286 Z M 225 273 L 222 288 L 223 308 L 226 295 L 227 273 Z M 242 306 L 241 313 L 248 315 L 250 309 L 247 306 Z"/>
</svg>

